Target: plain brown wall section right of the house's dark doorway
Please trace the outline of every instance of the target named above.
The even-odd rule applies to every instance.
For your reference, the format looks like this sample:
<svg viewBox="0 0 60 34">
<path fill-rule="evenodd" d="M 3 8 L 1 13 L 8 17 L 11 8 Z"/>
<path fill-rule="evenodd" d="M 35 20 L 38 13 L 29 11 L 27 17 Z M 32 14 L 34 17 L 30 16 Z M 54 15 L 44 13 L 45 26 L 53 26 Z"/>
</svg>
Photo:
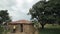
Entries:
<svg viewBox="0 0 60 34">
<path fill-rule="evenodd" d="M 24 24 L 23 25 L 23 30 L 26 34 L 34 34 L 35 33 L 35 28 L 33 27 L 32 24 Z"/>
</svg>

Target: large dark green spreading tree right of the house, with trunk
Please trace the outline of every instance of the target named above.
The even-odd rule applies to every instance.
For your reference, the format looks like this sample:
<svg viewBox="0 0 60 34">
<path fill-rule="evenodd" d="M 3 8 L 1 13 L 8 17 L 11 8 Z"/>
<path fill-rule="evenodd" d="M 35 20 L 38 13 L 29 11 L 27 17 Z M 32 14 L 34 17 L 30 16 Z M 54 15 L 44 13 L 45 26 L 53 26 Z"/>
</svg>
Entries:
<svg viewBox="0 0 60 34">
<path fill-rule="evenodd" d="M 42 29 L 46 23 L 60 21 L 60 0 L 39 1 L 29 10 L 31 19 L 36 18 Z"/>
</svg>

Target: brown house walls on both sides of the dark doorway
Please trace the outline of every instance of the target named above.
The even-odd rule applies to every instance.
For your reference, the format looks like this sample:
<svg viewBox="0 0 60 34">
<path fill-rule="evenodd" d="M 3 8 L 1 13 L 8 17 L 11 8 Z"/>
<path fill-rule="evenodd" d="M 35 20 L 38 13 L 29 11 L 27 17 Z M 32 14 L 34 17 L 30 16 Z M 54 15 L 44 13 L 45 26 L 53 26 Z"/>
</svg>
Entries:
<svg viewBox="0 0 60 34">
<path fill-rule="evenodd" d="M 14 25 L 9 25 L 11 32 L 13 30 L 13 26 Z M 21 33 L 20 25 L 15 25 L 15 26 L 16 26 L 16 32 Z M 24 34 L 38 34 L 38 32 L 36 31 L 36 29 L 33 27 L 32 24 L 23 24 L 23 32 L 22 33 L 24 33 Z"/>
</svg>

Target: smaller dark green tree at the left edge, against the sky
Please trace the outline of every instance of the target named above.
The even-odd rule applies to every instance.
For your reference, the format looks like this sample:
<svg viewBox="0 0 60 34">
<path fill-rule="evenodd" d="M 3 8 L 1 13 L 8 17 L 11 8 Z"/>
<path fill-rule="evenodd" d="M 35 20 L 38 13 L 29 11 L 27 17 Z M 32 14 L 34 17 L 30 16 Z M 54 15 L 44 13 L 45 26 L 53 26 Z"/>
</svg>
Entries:
<svg viewBox="0 0 60 34">
<path fill-rule="evenodd" d="M 0 24 L 11 21 L 8 10 L 0 10 Z"/>
</svg>

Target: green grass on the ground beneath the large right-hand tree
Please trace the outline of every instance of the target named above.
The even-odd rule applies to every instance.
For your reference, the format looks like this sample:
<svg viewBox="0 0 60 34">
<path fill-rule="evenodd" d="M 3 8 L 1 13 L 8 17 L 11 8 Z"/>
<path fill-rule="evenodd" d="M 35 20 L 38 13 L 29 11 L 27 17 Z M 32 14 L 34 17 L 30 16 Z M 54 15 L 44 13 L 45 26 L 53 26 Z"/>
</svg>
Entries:
<svg viewBox="0 0 60 34">
<path fill-rule="evenodd" d="M 44 29 L 39 29 L 39 34 L 60 34 L 60 25 L 45 25 Z"/>
</svg>

